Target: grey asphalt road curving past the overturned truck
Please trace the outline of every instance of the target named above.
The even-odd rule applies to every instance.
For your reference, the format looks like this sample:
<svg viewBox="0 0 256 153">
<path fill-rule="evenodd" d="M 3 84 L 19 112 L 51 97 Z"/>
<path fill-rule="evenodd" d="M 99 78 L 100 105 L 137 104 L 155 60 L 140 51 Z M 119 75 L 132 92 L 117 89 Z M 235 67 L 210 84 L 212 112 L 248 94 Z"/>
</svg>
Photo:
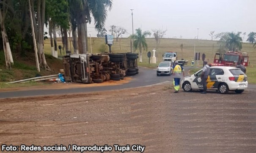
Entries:
<svg viewBox="0 0 256 153">
<path fill-rule="evenodd" d="M 188 71 L 194 67 L 184 67 L 186 75 Z M 118 89 L 128 89 L 140 86 L 149 86 L 157 83 L 164 83 L 166 81 L 172 81 L 170 76 L 157 76 L 156 70 L 139 67 L 139 74 L 129 76 L 132 78 L 129 83 L 116 85 L 116 86 L 96 86 L 85 88 L 70 88 L 70 89 L 39 89 L 39 90 L 26 90 L 26 91 L 4 91 L 0 92 L 0 98 L 13 98 L 13 97 L 29 97 L 29 96 L 42 96 L 42 95 L 54 95 L 54 94 L 73 94 L 73 93 L 85 93 L 91 91 L 108 91 Z M 249 89 L 256 89 L 256 85 L 249 85 Z"/>
</svg>

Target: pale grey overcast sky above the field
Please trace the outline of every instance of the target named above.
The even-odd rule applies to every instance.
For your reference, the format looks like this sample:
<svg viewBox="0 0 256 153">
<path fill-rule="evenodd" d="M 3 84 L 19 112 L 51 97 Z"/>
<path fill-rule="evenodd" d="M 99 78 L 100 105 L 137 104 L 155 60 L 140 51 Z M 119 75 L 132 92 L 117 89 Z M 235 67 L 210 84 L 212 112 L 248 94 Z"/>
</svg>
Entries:
<svg viewBox="0 0 256 153">
<path fill-rule="evenodd" d="M 256 0 L 113 0 L 105 27 L 121 26 L 132 34 L 134 9 L 134 32 L 139 27 L 151 33 L 167 29 L 164 38 L 193 39 L 198 34 L 198 39 L 210 40 L 210 31 L 240 31 L 246 32 L 246 40 L 249 32 L 256 32 L 255 7 Z M 96 36 L 94 22 L 88 24 L 88 33 Z"/>
</svg>

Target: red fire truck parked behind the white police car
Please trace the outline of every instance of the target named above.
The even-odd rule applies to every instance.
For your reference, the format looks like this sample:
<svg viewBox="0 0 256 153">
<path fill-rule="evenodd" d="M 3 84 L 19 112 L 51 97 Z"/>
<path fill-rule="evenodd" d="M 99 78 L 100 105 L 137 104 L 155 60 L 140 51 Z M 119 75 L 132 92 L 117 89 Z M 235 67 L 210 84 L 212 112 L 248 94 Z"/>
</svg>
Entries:
<svg viewBox="0 0 256 153">
<path fill-rule="evenodd" d="M 240 61 L 245 67 L 249 64 L 249 54 L 239 51 L 227 51 L 226 53 L 216 53 L 213 63 L 210 66 L 231 66 L 234 62 Z"/>
</svg>

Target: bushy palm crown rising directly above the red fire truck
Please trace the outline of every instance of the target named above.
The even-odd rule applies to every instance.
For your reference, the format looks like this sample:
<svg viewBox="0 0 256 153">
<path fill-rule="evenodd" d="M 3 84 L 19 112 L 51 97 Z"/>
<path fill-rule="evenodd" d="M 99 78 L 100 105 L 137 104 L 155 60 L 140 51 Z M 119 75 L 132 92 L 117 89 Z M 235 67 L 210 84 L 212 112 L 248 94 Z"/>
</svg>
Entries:
<svg viewBox="0 0 256 153">
<path fill-rule="evenodd" d="M 226 39 L 226 47 L 231 50 L 237 50 L 236 48 L 241 51 L 242 49 L 242 38 L 240 37 L 241 32 L 234 32 L 228 33 L 228 38 Z"/>
</svg>

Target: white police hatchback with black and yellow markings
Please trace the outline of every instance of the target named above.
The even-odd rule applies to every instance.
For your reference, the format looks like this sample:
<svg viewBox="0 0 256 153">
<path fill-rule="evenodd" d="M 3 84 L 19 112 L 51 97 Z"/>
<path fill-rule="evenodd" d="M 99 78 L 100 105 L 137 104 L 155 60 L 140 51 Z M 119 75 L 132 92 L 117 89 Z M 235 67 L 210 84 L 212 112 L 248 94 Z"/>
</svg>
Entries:
<svg viewBox="0 0 256 153">
<path fill-rule="evenodd" d="M 183 90 L 203 90 L 200 78 L 202 72 L 203 69 L 191 76 L 185 77 L 182 83 Z M 221 94 L 226 94 L 228 91 L 235 91 L 237 94 L 241 94 L 248 87 L 247 75 L 236 67 L 210 67 L 210 73 L 206 82 L 207 89 L 219 91 Z"/>
</svg>

